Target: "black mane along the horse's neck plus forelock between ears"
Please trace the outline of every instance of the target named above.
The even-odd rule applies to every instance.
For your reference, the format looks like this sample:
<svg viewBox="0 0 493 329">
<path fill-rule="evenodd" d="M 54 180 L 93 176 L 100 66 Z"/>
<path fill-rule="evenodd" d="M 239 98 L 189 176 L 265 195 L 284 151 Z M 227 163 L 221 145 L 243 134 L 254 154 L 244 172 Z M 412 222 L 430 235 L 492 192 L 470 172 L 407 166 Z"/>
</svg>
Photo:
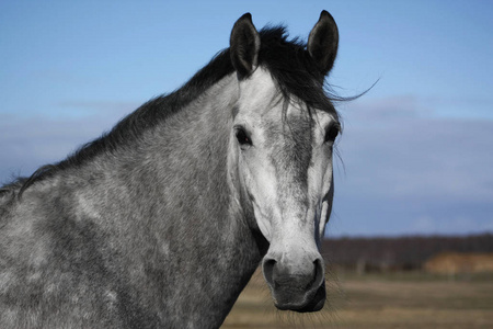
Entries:
<svg viewBox="0 0 493 329">
<path fill-rule="evenodd" d="M 337 117 L 331 101 L 342 99 L 329 97 L 324 91 L 324 76 L 306 50 L 306 44 L 299 39 L 288 41 L 284 26 L 265 27 L 260 31 L 260 36 L 259 65 L 270 70 L 285 99 L 289 100 L 294 95 L 306 103 L 309 111 L 320 109 Z M 56 164 L 44 166 L 28 179 L 19 180 L 22 182 L 19 197 L 23 191 L 39 180 L 51 177 L 60 170 L 79 167 L 98 155 L 112 152 L 117 147 L 128 144 L 129 140 L 139 138 L 142 132 L 162 123 L 233 71 L 230 50 L 227 48 L 217 54 L 182 88 L 148 101 L 122 120 L 111 132 L 83 145 L 67 159 Z M 19 183 L 10 186 L 19 186 Z M 0 193 L 8 190 L 10 190 L 9 185 L 0 189 Z"/>
</svg>

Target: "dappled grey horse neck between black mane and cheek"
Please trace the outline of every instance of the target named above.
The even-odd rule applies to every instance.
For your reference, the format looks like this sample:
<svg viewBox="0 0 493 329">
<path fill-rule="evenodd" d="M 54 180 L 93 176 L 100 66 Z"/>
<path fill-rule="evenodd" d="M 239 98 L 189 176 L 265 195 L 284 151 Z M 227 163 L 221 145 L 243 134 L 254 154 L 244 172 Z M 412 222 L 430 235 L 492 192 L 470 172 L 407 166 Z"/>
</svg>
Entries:
<svg viewBox="0 0 493 329">
<path fill-rule="evenodd" d="M 102 284 L 144 314 L 219 327 L 263 253 L 228 172 L 238 94 L 236 76 L 223 78 L 138 139 L 33 184 L 19 207 L 58 230 L 90 227 Z"/>
</svg>

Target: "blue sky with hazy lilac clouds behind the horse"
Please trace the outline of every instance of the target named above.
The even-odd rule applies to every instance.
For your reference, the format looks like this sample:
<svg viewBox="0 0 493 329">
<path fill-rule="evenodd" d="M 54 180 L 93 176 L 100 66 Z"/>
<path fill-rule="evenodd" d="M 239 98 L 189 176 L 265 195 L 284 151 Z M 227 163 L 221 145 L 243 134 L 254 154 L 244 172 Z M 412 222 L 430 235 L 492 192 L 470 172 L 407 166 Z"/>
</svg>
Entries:
<svg viewBox="0 0 493 329">
<path fill-rule="evenodd" d="M 0 182 L 184 83 L 234 21 L 340 29 L 329 236 L 493 231 L 491 1 L 0 1 Z"/>
</svg>

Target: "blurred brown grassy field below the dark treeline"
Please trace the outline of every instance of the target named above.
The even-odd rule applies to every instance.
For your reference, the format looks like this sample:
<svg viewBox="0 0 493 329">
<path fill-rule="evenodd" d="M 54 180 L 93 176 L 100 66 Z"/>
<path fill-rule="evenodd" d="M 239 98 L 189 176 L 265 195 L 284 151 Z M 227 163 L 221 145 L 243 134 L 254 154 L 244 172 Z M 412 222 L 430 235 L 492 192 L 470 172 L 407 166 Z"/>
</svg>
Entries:
<svg viewBox="0 0 493 329">
<path fill-rule="evenodd" d="M 257 272 L 221 328 L 493 328 L 491 274 L 337 276 L 329 281 L 329 307 L 298 315 L 275 309 Z"/>
</svg>

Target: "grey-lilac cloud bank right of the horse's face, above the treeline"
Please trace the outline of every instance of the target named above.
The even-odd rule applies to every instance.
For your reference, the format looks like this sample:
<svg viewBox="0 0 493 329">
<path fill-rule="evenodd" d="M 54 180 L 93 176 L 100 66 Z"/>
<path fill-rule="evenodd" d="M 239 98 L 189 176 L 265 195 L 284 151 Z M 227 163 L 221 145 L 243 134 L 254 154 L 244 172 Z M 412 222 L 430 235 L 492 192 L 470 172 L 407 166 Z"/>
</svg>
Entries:
<svg viewBox="0 0 493 329">
<path fill-rule="evenodd" d="M 493 121 L 437 117 L 412 97 L 360 100 L 342 111 L 337 232 L 493 229 Z"/>
</svg>

